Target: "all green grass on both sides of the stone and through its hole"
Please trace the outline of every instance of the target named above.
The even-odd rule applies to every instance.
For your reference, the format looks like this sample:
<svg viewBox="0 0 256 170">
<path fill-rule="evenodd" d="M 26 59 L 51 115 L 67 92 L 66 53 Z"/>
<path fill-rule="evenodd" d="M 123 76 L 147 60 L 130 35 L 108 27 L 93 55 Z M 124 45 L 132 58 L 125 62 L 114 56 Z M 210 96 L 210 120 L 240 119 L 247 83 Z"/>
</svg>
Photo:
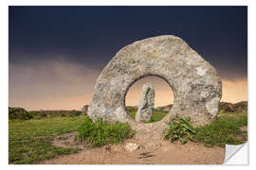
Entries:
<svg viewBox="0 0 256 170">
<path fill-rule="evenodd" d="M 133 118 L 135 114 L 136 111 L 130 112 Z M 149 122 L 159 121 L 166 114 L 154 110 Z M 210 125 L 192 128 L 195 131 L 192 139 L 207 146 L 243 144 L 247 141 L 247 132 L 240 129 L 243 126 L 247 126 L 247 112 L 221 112 L 218 120 Z M 78 140 L 94 146 L 117 144 L 135 133 L 127 124 L 107 124 L 104 121 L 93 124 L 86 115 L 9 120 L 9 163 L 31 164 L 77 152 L 79 149 L 76 147 L 63 148 L 51 144 L 57 135 L 74 130 L 78 130 Z"/>
</svg>

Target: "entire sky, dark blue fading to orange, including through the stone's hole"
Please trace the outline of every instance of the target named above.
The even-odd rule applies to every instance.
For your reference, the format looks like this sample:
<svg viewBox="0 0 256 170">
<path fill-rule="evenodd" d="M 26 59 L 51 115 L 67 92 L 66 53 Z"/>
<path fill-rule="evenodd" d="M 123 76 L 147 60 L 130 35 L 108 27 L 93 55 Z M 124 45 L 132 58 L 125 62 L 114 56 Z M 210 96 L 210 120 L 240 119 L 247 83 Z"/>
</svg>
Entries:
<svg viewBox="0 0 256 170">
<path fill-rule="evenodd" d="M 9 7 L 9 106 L 80 110 L 89 104 L 101 70 L 125 45 L 175 35 L 217 70 L 222 101 L 247 100 L 247 7 Z M 174 101 L 154 76 L 155 107 Z"/>
</svg>

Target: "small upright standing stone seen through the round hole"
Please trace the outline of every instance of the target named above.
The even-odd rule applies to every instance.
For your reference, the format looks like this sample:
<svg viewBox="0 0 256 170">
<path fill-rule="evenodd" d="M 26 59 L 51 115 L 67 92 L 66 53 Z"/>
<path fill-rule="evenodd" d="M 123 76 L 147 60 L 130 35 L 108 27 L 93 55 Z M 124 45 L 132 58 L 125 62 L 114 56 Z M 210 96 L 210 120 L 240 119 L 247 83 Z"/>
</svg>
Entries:
<svg viewBox="0 0 256 170">
<path fill-rule="evenodd" d="M 137 105 L 136 121 L 146 122 L 152 117 L 155 102 L 155 90 L 151 83 L 142 86 L 139 102 Z"/>
</svg>

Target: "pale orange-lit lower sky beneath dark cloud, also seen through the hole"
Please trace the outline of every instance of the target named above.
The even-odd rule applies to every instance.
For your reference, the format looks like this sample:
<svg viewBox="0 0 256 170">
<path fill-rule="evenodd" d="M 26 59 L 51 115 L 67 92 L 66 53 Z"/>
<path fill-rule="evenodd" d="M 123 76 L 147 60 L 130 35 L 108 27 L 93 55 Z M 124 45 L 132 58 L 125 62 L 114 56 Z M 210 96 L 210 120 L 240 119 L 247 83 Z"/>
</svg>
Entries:
<svg viewBox="0 0 256 170">
<path fill-rule="evenodd" d="M 36 68 L 34 68 L 36 67 Z M 26 110 L 81 110 L 91 102 L 91 95 L 100 72 L 67 62 L 50 62 L 20 68 L 11 67 L 9 76 L 9 107 Z M 33 72 L 31 72 L 33 70 Z M 173 91 L 158 76 L 143 77 L 129 89 L 126 106 L 137 106 L 142 85 L 153 83 L 155 108 L 174 102 Z M 221 101 L 247 101 L 247 77 L 222 79 Z"/>
</svg>

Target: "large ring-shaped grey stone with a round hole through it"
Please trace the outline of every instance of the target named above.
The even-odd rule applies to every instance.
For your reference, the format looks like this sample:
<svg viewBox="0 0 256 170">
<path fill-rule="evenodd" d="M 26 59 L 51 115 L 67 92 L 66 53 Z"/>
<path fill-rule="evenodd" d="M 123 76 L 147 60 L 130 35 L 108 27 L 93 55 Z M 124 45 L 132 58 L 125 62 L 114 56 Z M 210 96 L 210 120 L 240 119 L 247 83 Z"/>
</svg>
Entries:
<svg viewBox="0 0 256 170">
<path fill-rule="evenodd" d="M 174 92 L 174 106 L 152 124 L 133 120 L 125 110 L 125 95 L 143 76 L 159 76 Z M 208 61 L 173 35 L 144 39 L 124 46 L 101 72 L 87 114 L 93 120 L 127 122 L 137 138 L 160 138 L 174 115 L 190 116 L 193 126 L 215 120 L 222 95 L 221 79 Z"/>
</svg>

